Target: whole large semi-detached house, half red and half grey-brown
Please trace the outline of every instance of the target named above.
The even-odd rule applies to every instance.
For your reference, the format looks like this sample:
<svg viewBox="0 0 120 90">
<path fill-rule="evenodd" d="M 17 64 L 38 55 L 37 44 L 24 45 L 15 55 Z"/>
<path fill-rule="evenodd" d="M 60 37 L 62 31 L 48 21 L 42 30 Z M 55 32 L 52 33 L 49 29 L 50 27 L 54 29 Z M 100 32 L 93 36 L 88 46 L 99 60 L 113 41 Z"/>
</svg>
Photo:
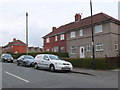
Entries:
<svg viewBox="0 0 120 90">
<path fill-rule="evenodd" d="M 70 57 L 92 56 L 92 31 L 90 16 L 81 18 L 75 15 L 75 21 L 53 27 L 52 32 L 44 36 L 44 51 L 68 52 Z M 120 21 L 105 14 L 93 15 L 95 56 L 113 57 L 119 55 L 118 36 Z"/>
</svg>

